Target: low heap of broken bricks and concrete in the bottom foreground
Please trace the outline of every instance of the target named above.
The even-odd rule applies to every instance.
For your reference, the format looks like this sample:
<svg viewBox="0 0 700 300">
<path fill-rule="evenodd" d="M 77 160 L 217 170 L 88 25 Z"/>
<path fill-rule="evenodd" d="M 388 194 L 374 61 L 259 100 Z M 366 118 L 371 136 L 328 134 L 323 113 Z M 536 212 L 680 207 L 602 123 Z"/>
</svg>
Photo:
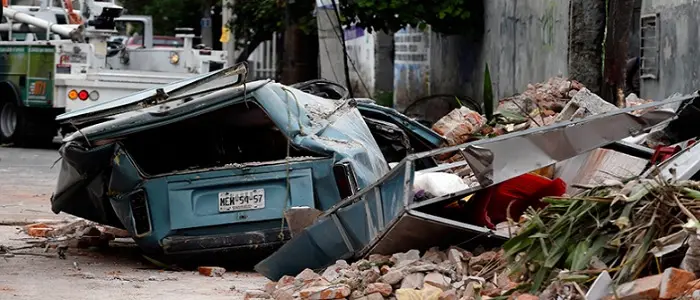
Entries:
<svg viewBox="0 0 700 300">
<path fill-rule="evenodd" d="M 251 291 L 268 299 L 472 299 L 500 296 L 517 287 L 505 270 L 502 251 L 472 253 L 458 247 L 424 253 L 410 250 L 344 260 L 320 273 L 306 269 Z M 255 297 L 253 297 L 255 296 Z"/>
</svg>

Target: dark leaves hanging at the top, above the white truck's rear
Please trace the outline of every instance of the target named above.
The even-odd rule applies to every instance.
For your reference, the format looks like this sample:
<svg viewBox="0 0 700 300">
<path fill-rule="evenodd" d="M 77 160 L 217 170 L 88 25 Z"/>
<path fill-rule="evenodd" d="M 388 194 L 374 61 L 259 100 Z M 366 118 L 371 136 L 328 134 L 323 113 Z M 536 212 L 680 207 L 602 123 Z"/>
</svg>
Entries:
<svg viewBox="0 0 700 300">
<path fill-rule="evenodd" d="M 155 33 L 173 35 L 178 27 L 199 28 L 204 10 L 218 2 L 220 0 L 122 0 L 121 5 L 129 14 L 151 16 Z"/>
</svg>

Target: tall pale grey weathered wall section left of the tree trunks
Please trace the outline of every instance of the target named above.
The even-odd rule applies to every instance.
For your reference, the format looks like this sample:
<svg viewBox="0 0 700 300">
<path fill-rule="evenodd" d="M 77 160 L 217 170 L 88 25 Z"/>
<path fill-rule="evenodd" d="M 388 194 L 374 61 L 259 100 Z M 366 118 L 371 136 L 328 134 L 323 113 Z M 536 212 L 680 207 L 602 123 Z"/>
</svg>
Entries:
<svg viewBox="0 0 700 300">
<path fill-rule="evenodd" d="M 491 0 L 485 2 L 485 32 L 465 90 L 481 99 L 489 64 L 494 95 L 523 91 L 529 83 L 567 75 L 568 0 Z"/>
</svg>

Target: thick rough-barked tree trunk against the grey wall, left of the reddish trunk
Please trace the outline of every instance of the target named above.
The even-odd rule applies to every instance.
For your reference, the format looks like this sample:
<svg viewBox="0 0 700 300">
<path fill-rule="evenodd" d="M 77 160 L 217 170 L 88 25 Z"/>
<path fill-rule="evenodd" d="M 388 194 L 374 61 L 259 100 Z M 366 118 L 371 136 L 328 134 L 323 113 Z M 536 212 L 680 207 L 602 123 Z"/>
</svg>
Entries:
<svg viewBox="0 0 700 300">
<path fill-rule="evenodd" d="M 606 0 L 571 0 L 569 75 L 591 92 L 601 93 Z"/>
</svg>

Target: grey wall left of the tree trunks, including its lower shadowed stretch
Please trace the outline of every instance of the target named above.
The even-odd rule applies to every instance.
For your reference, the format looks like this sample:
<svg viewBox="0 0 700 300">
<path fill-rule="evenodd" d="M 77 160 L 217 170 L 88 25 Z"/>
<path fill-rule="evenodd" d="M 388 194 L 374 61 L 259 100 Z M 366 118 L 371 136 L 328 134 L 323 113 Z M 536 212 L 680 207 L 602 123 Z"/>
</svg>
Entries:
<svg viewBox="0 0 700 300">
<path fill-rule="evenodd" d="M 395 69 L 394 104 L 403 108 L 421 93 L 466 95 L 481 102 L 486 63 L 497 98 L 521 92 L 529 83 L 566 76 L 568 20 L 568 0 L 486 0 L 482 36 L 432 33 L 429 71 L 417 73 L 423 77 L 413 80 L 414 87 L 398 82 L 400 70 Z M 422 81 L 428 83 L 416 84 Z"/>
</svg>

